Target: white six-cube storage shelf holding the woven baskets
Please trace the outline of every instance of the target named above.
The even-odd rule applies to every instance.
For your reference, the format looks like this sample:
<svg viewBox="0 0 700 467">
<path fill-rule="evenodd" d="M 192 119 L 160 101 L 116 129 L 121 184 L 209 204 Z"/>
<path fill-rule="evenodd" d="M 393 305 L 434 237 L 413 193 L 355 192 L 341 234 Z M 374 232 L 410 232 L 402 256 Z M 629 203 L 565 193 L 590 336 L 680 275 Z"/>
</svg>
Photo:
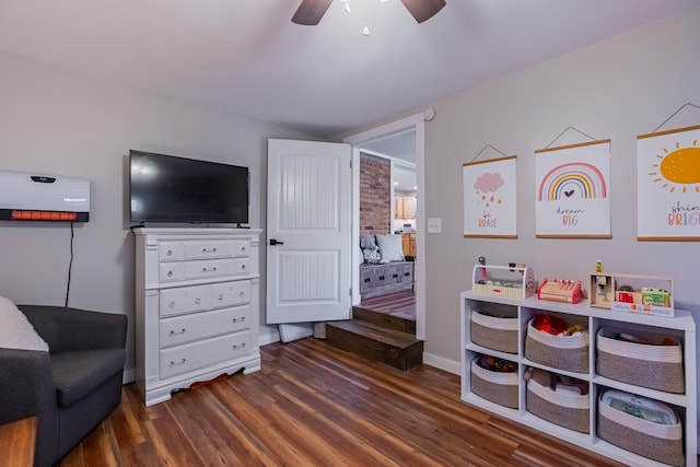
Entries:
<svg viewBox="0 0 700 467">
<path fill-rule="evenodd" d="M 495 350 L 498 348 L 501 348 L 498 343 L 490 343 L 483 340 L 485 336 L 489 335 L 488 330 L 486 332 L 483 330 L 483 326 L 488 326 L 489 320 L 480 319 L 481 317 L 478 317 L 477 319 L 479 320 L 479 323 L 477 326 L 471 323 L 474 312 L 482 312 L 483 310 L 489 310 L 489 307 L 499 310 L 499 315 L 508 315 L 511 319 L 512 316 L 516 317 L 516 352 L 504 352 L 501 350 Z M 503 313 L 503 307 L 510 307 L 510 313 Z M 550 364 L 537 362 L 535 361 L 536 359 L 538 359 L 537 354 L 530 353 L 530 358 L 528 358 L 528 354 L 526 353 L 528 323 L 532 318 L 540 313 L 549 313 L 553 316 L 561 317 L 567 323 L 581 323 L 585 325 L 587 334 L 585 335 L 586 357 L 584 360 L 584 366 L 576 367 L 576 371 L 571 371 L 570 369 L 567 369 L 564 364 L 558 364 L 558 362 L 556 361 L 548 361 L 548 363 Z M 697 466 L 698 421 L 696 323 L 690 312 L 676 308 L 675 316 L 673 318 L 669 318 L 663 316 L 638 315 L 591 307 L 586 301 L 578 304 L 568 304 L 540 301 L 536 296 L 517 300 L 498 296 L 485 296 L 482 294 L 474 293 L 472 291 L 467 291 L 460 294 L 460 320 L 462 400 L 464 400 L 465 402 L 489 410 L 510 420 L 517 421 L 535 430 L 551 434 L 563 441 L 591 450 L 592 452 L 628 465 L 678 465 L 677 458 L 673 460 L 669 459 L 670 464 L 664 464 L 662 462 L 650 458 L 649 455 L 645 456 L 634 453 L 633 448 L 631 448 L 630 451 L 628 448 L 620 447 L 620 445 L 615 444 L 615 439 L 611 440 L 612 442 L 605 441 L 599 434 L 600 420 L 604 420 L 604 422 L 607 423 L 605 413 L 603 415 L 603 417 L 600 417 L 602 410 L 598 409 L 599 396 L 605 390 L 618 389 L 633 395 L 648 397 L 669 405 L 678 413 L 682 425 L 684 465 L 691 467 Z M 494 336 L 503 331 L 502 329 L 498 328 L 498 323 L 495 326 L 497 329 L 494 330 Z M 479 332 L 479 335 L 476 336 L 476 341 L 475 339 L 472 339 L 472 332 L 475 332 L 475 329 Z M 650 382 L 643 381 L 643 374 L 642 381 L 640 381 L 639 378 L 630 378 L 628 377 L 629 375 L 617 374 L 615 372 L 610 373 L 609 371 L 607 371 L 606 373 L 608 374 L 608 376 L 604 376 L 598 373 L 597 364 L 599 363 L 599 359 L 602 358 L 609 360 L 611 355 L 614 355 L 614 353 L 610 352 L 614 352 L 614 350 L 611 349 L 615 349 L 615 347 L 604 346 L 603 349 L 600 349 L 598 347 L 597 335 L 598 331 L 602 330 L 600 334 L 607 336 L 608 329 L 623 329 L 626 332 L 639 334 L 642 336 L 667 336 L 674 340 L 677 340 L 680 346 L 679 348 L 676 347 L 675 350 L 648 349 L 651 352 L 649 367 L 650 377 L 652 378 L 652 381 Z M 547 343 L 547 341 L 545 343 Z M 541 342 L 538 341 L 537 346 L 540 345 Z M 579 346 L 580 343 L 574 346 L 574 348 L 578 348 Z M 508 350 L 512 350 L 512 346 L 508 347 Z M 556 348 L 558 347 L 558 345 L 553 343 L 552 347 Z M 548 347 L 545 347 L 545 349 L 548 349 Z M 653 377 L 655 376 L 651 375 L 651 372 L 657 371 L 661 367 L 668 371 L 668 373 L 674 376 L 674 380 L 678 380 L 678 364 L 675 363 L 676 360 L 673 357 L 673 354 L 676 353 L 675 351 L 677 351 L 678 349 L 681 349 L 682 352 L 680 364 L 682 375 L 680 376 L 680 378 L 684 382 L 684 386 L 680 393 L 678 393 L 677 384 L 670 384 L 667 387 L 658 386 L 657 382 L 653 381 Z M 661 352 L 661 355 L 656 357 L 658 352 Z M 550 352 L 545 353 L 547 355 L 547 359 L 550 359 L 551 354 L 557 354 L 556 350 L 552 351 L 551 354 Z M 574 353 L 575 359 L 579 359 L 580 353 Z M 642 359 L 646 358 L 644 357 L 646 352 L 640 351 L 638 353 Z M 672 357 L 667 357 L 667 353 L 670 353 Z M 476 388 L 476 390 L 474 390 L 474 382 L 478 381 L 479 383 L 482 383 L 483 377 L 482 375 L 472 374 L 472 362 L 478 355 L 482 354 L 517 363 L 517 404 L 514 404 L 512 397 L 510 397 L 508 398 L 508 405 L 510 405 L 511 407 L 506 407 L 503 404 L 497 404 L 479 396 L 477 393 L 482 393 L 483 389 L 481 387 L 478 387 Z M 565 349 L 562 354 L 567 355 Z M 639 361 L 632 361 L 629 354 L 621 357 L 630 360 L 627 362 L 630 363 L 630 371 L 634 371 L 639 374 L 640 366 L 644 367 L 644 361 L 642 361 L 640 364 Z M 606 364 L 608 363 L 607 360 L 605 361 Z M 585 381 L 590 386 L 588 395 L 575 401 L 561 400 L 561 404 L 556 404 L 556 407 L 541 407 L 540 409 L 538 409 L 535 407 L 535 405 L 541 406 L 540 399 L 544 399 L 541 397 L 542 392 L 533 390 L 540 389 L 534 387 L 530 387 L 528 389 L 528 382 L 523 380 L 524 372 L 530 366 Z M 619 366 L 615 366 L 615 371 L 623 372 L 626 370 L 620 370 Z M 634 383 L 632 384 L 625 381 L 632 381 Z M 497 383 L 498 381 L 495 380 L 490 382 L 490 384 Z M 660 390 L 653 387 L 663 387 L 668 390 Z M 505 390 L 513 390 L 513 382 L 511 380 L 508 381 L 508 388 L 504 388 L 504 392 Z M 532 400 L 528 401 L 529 393 L 538 395 L 539 399 L 530 396 Z M 549 402 L 551 402 L 552 400 L 553 399 L 550 399 Z M 539 412 L 540 416 L 550 418 L 550 420 L 548 421 L 528 411 L 528 402 L 533 411 Z M 578 423 L 574 425 L 570 425 L 570 428 L 564 428 L 562 424 L 567 424 L 563 420 L 567 420 L 565 413 L 568 408 L 572 410 L 572 418 L 575 417 Z M 553 416 L 549 417 L 550 413 L 553 413 Z M 604 430 L 605 429 L 609 428 L 605 427 Z M 641 439 L 643 439 L 643 436 Z M 670 444 L 662 444 L 662 446 L 674 450 L 675 445 L 673 443 L 677 443 L 677 441 L 669 441 L 668 443 Z M 640 452 L 642 454 L 645 454 L 643 448 L 640 450 Z"/>
</svg>

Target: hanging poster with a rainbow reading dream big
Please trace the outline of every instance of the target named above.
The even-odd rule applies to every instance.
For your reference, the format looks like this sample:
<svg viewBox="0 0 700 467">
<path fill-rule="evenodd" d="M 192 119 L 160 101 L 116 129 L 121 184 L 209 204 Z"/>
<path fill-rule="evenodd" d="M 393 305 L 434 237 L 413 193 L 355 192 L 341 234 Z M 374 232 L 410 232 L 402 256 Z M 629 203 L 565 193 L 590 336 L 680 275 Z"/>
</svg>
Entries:
<svg viewBox="0 0 700 467">
<path fill-rule="evenodd" d="M 536 236 L 610 237 L 610 140 L 535 151 Z"/>
</svg>

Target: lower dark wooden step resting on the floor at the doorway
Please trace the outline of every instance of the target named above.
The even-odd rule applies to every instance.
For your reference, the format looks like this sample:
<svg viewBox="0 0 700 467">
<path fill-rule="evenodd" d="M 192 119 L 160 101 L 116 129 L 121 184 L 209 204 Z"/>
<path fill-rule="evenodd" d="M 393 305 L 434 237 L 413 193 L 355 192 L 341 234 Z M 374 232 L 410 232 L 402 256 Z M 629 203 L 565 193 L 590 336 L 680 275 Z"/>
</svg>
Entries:
<svg viewBox="0 0 700 467">
<path fill-rule="evenodd" d="M 423 363 L 423 341 L 416 336 L 359 319 L 326 323 L 326 341 L 399 370 Z"/>
</svg>

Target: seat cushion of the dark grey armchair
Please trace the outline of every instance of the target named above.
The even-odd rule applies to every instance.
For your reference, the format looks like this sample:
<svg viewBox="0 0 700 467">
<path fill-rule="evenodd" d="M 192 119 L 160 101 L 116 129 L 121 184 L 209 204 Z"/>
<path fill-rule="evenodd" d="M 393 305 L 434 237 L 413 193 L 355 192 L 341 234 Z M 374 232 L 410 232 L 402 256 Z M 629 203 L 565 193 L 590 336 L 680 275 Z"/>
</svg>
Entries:
<svg viewBox="0 0 700 467">
<path fill-rule="evenodd" d="M 51 355 L 51 373 L 59 407 L 70 406 L 121 371 L 124 349 L 96 349 Z"/>
</svg>

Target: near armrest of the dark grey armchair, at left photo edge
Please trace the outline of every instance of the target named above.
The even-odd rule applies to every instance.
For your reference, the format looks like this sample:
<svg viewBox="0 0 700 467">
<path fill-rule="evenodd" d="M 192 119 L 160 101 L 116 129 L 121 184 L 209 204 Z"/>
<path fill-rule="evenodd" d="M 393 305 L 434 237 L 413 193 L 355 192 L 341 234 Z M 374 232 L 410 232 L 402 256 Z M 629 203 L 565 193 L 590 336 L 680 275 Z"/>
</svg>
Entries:
<svg viewBox="0 0 700 467">
<path fill-rule="evenodd" d="M 56 411 L 48 352 L 0 349 L 0 423 Z"/>
</svg>

